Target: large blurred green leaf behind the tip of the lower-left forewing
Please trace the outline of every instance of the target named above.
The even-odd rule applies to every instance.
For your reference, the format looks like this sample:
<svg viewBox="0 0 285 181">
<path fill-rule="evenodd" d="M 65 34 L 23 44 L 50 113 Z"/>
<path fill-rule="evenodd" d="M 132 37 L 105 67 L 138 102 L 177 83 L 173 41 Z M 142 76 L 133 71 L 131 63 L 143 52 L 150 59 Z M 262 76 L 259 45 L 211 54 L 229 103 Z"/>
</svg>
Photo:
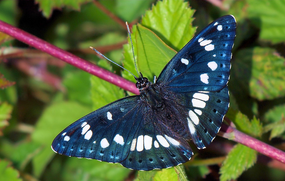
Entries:
<svg viewBox="0 0 285 181">
<path fill-rule="evenodd" d="M 34 175 L 40 176 L 54 156 L 52 140 L 72 122 L 90 113 L 91 109 L 76 102 L 56 102 L 45 109 L 31 135 L 32 141 L 42 145 L 42 151 L 33 160 Z"/>
</svg>

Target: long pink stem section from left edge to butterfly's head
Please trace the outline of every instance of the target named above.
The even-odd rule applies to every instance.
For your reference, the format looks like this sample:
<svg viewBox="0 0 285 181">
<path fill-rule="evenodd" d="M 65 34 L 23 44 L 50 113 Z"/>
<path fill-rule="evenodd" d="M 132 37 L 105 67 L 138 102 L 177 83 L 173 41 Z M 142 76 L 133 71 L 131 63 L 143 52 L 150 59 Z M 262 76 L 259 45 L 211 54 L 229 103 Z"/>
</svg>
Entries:
<svg viewBox="0 0 285 181">
<path fill-rule="evenodd" d="M 131 81 L 128 81 L 114 73 L 111 73 L 93 63 L 86 61 L 78 56 L 75 56 L 69 52 L 66 52 L 34 35 L 31 35 L 15 26 L 7 24 L 3 21 L 0 21 L 0 31 L 6 33 L 21 42 L 24 42 L 38 50 L 46 52 L 58 59 L 74 65 L 79 69 L 82 69 L 92 75 L 99 77 L 105 81 L 108 81 L 118 87 L 121 87 L 124 90 L 133 92 L 134 94 L 139 94 L 139 90 L 135 87 L 135 84 Z"/>
</svg>

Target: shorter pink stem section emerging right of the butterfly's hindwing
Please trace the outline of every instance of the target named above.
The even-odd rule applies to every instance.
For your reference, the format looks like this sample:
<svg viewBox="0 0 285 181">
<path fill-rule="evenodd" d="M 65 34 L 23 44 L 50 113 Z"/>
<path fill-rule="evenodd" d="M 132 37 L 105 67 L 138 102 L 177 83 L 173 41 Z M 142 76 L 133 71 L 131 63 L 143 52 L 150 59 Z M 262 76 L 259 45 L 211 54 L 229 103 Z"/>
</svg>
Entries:
<svg viewBox="0 0 285 181">
<path fill-rule="evenodd" d="M 223 133 L 221 131 L 223 131 Z M 284 151 L 281 151 L 280 149 L 272 147 L 262 141 L 259 141 L 258 139 L 255 139 L 225 124 L 222 124 L 221 131 L 219 134 L 222 134 L 224 138 L 241 143 L 249 148 L 252 148 L 258 151 L 259 153 L 263 155 L 266 155 L 272 159 L 285 163 L 285 152 Z"/>
</svg>

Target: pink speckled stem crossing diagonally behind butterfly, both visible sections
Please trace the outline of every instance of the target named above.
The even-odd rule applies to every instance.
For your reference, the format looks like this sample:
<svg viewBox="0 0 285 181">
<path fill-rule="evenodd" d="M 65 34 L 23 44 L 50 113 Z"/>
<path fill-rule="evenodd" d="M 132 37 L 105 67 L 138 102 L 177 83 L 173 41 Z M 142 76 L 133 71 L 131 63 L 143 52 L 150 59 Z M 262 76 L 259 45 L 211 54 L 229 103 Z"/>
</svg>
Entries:
<svg viewBox="0 0 285 181">
<path fill-rule="evenodd" d="M 114 73 L 102 69 L 101 67 L 98 67 L 93 63 L 81 59 L 80 57 L 66 52 L 56 46 L 53 46 L 52 44 L 49 44 L 48 42 L 41 40 L 36 36 L 33 36 L 23 30 L 20 30 L 19 28 L 0 21 L 0 31 L 34 48 L 37 48 L 54 57 L 57 57 L 71 65 L 74 65 L 75 67 L 78 67 L 92 75 L 104 79 L 114 85 L 117 85 L 122 89 L 133 92 L 134 94 L 139 94 L 139 91 L 135 87 L 134 83 L 127 81 L 126 79 L 123 79 L 122 77 Z M 233 127 L 223 124 L 219 135 L 222 135 L 225 138 L 231 139 L 233 141 L 246 145 L 247 147 L 255 149 L 259 153 L 262 153 L 263 155 L 266 155 L 272 159 L 276 159 L 282 163 L 285 163 L 285 153 L 283 151 L 276 149 L 266 143 L 263 143 L 262 141 L 259 141 L 249 135 L 246 135 L 245 133 L 242 133 Z"/>
</svg>

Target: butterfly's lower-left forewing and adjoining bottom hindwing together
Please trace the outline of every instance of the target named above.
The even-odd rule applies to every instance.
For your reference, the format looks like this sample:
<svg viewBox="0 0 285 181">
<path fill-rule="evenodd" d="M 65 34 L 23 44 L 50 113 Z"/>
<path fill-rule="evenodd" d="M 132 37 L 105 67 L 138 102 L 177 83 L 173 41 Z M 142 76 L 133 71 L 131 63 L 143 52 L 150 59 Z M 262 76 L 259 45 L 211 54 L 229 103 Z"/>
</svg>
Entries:
<svg viewBox="0 0 285 181">
<path fill-rule="evenodd" d="M 193 153 L 186 140 L 159 122 L 140 96 L 123 98 L 68 126 L 54 139 L 52 149 L 62 155 L 121 163 L 134 170 L 188 161 Z"/>
</svg>

